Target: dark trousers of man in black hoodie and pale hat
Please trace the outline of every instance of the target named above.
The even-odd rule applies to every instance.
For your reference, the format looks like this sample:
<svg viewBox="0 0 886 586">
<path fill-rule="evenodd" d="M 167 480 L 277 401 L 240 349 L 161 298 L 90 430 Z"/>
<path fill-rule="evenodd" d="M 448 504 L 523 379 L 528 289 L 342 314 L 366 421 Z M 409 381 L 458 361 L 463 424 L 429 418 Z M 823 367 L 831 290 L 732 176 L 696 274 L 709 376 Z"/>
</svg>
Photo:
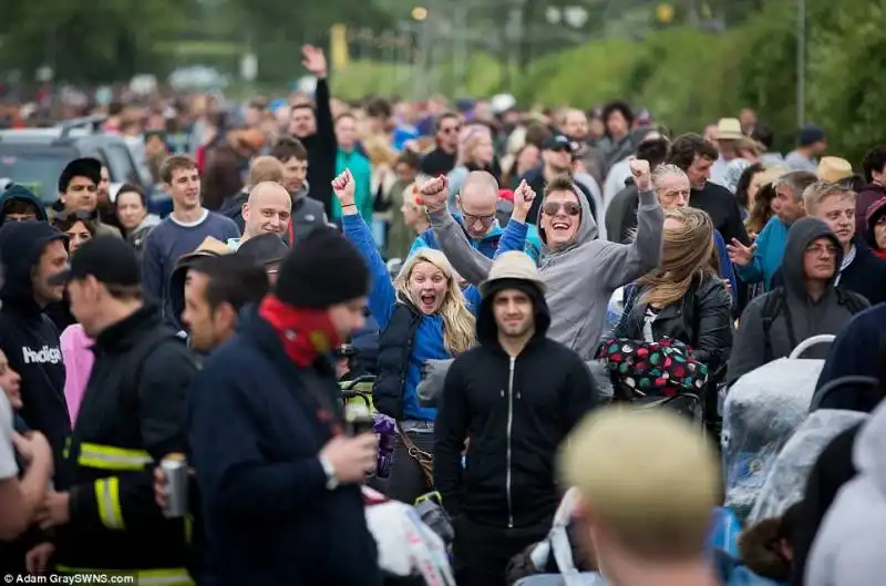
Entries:
<svg viewBox="0 0 886 586">
<path fill-rule="evenodd" d="M 508 530 L 471 522 L 464 515 L 453 520 L 455 583 L 459 586 L 506 586 L 511 558 L 544 539 L 550 523 Z"/>
</svg>

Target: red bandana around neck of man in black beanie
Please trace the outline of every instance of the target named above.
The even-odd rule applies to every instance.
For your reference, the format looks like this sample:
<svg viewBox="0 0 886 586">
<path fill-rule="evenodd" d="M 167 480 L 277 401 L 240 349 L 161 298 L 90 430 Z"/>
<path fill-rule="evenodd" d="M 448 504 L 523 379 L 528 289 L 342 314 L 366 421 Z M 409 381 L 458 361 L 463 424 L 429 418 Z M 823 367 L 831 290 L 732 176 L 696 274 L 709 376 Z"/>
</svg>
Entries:
<svg viewBox="0 0 886 586">
<path fill-rule="evenodd" d="M 258 315 L 270 323 L 286 354 L 301 368 L 341 345 L 326 309 L 306 309 L 284 304 L 272 295 L 261 300 Z"/>
</svg>

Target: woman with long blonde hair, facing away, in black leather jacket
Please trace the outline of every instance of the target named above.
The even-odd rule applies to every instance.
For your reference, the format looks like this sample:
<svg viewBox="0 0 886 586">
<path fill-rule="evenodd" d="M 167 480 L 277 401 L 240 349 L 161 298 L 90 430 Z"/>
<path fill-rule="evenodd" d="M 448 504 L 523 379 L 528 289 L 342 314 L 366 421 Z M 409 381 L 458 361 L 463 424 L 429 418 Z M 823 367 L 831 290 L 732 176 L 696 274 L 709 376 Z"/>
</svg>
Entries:
<svg viewBox="0 0 886 586">
<path fill-rule="evenodd" d="M 664 215 L 661 264 L 628 294 L 615 338 L 658 342 L 668 337 L 691 348 L 691 358 L 715 372 L 732 348 L 732 298 L 720 277 L 713 223 L 704 212 L 680 207 Z"/>
</svg>

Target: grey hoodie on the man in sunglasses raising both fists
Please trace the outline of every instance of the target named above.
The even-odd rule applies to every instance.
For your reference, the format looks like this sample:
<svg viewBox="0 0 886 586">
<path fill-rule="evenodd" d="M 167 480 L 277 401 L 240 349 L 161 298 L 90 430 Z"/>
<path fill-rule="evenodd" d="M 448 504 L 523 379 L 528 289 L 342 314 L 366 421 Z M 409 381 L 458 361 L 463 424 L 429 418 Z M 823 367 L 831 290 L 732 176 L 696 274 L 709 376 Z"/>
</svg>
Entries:
<svg viewBox="0 0 886 586">
<path fill-rule="evenodd" d="M 552 315 L 548 337 L 590 360 L 612 292 L 659 265 L 664 214 L 655 192 L 640 194 L 637 239 L 631 244 L 610 243 L 597 239 L 597 224 L 587 198 L 576 196 L 581 216 L 571 243 L 552 249 L 544 230 L 538 230 L 542 238 L 538 274 L 547 288 L 545 299 Z M 442 209 L 430 217 L 440 247 L 455 270 L 470 282 L 484 280 L 492 260 L 471 247 L 452 214 Z"/>
</svg>

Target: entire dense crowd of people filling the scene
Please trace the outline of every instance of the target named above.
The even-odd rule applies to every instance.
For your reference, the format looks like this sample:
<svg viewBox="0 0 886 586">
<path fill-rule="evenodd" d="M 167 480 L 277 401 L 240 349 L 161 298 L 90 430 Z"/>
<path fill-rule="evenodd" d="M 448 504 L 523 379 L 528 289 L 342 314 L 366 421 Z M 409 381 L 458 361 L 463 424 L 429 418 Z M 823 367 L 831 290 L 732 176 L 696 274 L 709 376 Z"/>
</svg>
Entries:
<svg viewBox="0 0 886 586">
<path fill-rule="evenodd" d="M 97 158 L 49 208 L 4 185 L 0 567 L 878 583 L 886 146 L 853 166 L 808 125 L 782 156 L 750 109 L 672 136 L 624 102 L 346 104 L 322 51 L 303 56 L 312 97 L 192 96 L 175 141 L 150 106 L 109 107 L 166 217 Z M 810 398 L 859 419 L 774 514 L 730 511 L 729 405 L 822 336 Z"/>
</svg>

